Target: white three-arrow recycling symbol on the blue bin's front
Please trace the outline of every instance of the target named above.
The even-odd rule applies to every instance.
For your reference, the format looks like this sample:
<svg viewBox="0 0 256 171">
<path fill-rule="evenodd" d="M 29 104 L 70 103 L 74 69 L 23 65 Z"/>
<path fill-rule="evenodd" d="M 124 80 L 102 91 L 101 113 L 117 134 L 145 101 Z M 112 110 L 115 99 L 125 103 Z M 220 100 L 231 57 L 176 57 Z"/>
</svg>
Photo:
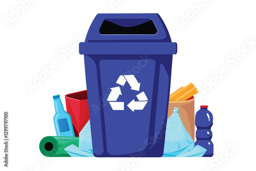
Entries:
<svg viewBox="0 0 256 171">
<path fill-rule="evenodd" d="M 118 83 L 121 86 L 124 86 L 125 82 L 129 83 L 131 86 L 131 90 L 140 91 L 140 83 L 137 81 L 134 75 L 120 75 L 117 79 L 116 83 Z M 119 97 L 119 95 L 122 95 L 120 87 L 114 87 L 110 88 L 111 92 L 108 97 L 108 101 L 111 105 L 112 110 L 114 111 L 123 111 L 124 110 L 124 102 L 118 102 L 116 101 Z M 135 110 L 143 110 L 146 103 L 147 103 L 147 97 L 144 92 L 139 93 L 136 95 L 139 101 L 135 101 L 133 99 L 127 106 L 134 112 Z"/>
</svg>

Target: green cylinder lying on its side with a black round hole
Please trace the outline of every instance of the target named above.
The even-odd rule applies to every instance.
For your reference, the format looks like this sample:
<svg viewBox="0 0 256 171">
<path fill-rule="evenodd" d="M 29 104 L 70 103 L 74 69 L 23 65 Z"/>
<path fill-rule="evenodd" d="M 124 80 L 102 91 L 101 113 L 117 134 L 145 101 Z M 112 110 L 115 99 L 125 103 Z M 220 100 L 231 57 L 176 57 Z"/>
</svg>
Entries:
<svg viewBox="0 0 256 171">
<path fill-rule="evenodd" d="M 46 157 L 70 157 L 65 148 L 71 144 L 79 146 L 79 137 L 48 136 L 40 141 L 40 152 Z"/>
</svg>

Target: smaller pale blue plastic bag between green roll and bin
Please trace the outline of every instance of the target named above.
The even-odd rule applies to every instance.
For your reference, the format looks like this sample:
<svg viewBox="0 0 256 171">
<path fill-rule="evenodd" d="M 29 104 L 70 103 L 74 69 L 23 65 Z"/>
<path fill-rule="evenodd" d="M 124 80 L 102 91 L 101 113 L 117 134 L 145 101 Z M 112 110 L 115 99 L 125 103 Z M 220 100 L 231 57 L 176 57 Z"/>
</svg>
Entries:
<svg viewBox="0 0 256 171">
<path fill-rule="evenodd" d="M 94 157 L 90 120 L 79 133 L 79 148 L 72 144 L 66 147 L 65 151 L 71 157 Z"/>
</svg>

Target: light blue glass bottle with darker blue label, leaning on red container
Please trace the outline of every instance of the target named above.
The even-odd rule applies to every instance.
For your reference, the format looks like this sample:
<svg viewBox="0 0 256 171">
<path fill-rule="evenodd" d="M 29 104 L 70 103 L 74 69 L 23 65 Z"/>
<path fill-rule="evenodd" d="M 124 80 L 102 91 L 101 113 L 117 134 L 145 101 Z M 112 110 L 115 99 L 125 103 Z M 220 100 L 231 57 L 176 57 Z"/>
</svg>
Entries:
<svg viewBox="0 0 256 171">
<path fill-rule="evenodd" d="M 53 117 L 57 136 L 74 137 L 71 116 L 64 110 L 59 95 L 53 96 L 55 115 Z"/>
</svg>

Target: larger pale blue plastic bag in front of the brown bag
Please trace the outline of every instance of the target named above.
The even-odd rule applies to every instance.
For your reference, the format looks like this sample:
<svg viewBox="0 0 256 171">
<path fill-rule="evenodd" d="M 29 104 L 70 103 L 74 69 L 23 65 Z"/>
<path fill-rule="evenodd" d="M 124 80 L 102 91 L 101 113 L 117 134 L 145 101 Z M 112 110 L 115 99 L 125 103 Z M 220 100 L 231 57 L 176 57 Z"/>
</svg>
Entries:
<svg viewBox="0 0 256 171">
<path fill-rule="evenodd" d="M 202 157 L 205 152 L 205 148 L 195 147 L 178 112 L 174 112 L 166 123 L 163 157 Z"/>
</svg>

